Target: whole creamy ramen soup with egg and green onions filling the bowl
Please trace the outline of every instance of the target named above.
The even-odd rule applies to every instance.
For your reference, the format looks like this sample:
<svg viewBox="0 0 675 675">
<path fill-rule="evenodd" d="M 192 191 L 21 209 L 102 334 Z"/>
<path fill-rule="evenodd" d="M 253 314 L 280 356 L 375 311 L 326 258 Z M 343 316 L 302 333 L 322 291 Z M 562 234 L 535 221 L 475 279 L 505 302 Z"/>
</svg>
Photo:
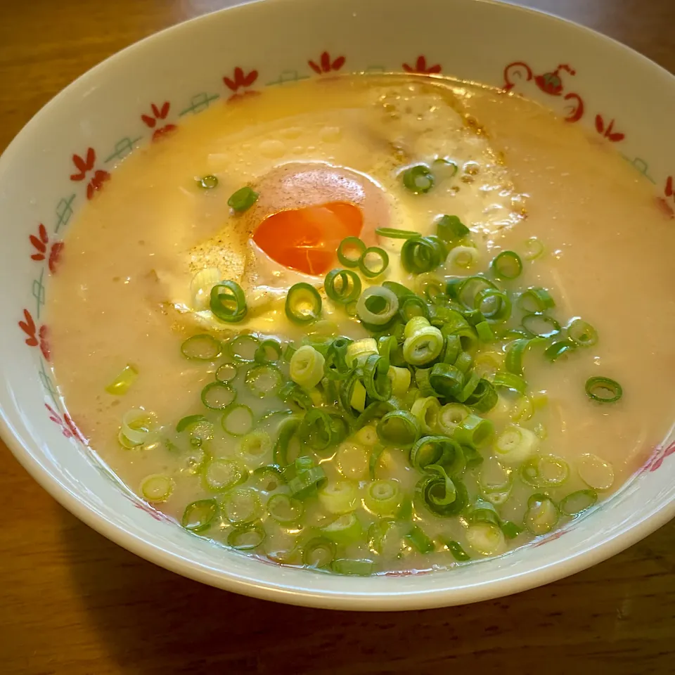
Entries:
<svg viewBox="0 0 675 675">
<path fill-rule="evenodd" d="M 448 568 L 565 527 L 667 432 L 673 250 L 647 181 L 536 103 L 309 81 L 124 160 L 65 240 L 53 363 L 91 446 L 195 535 Z"/>
</svg>

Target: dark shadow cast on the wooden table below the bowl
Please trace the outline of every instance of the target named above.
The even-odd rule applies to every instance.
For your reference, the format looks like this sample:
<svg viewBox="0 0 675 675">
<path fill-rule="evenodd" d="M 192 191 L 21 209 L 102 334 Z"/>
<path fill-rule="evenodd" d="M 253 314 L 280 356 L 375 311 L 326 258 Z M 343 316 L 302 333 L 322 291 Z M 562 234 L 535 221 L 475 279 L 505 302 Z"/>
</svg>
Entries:
<svg viewBox="0 0 675 675">
<path fill-rule="evenodd" d="M 592 570 L 511 598 L 354 613 L 203 586 L 137 558 L 63 511 L 70 569 L 91 621 L 120 671 L 143 675 L 436 675 L 468 668 L 503 675 L 508 664 L 525 674 L 546 664 L 547 673 L 576 675 L 608 659 L 615 674 L 658 672 L 649 659 L 674 647 L 673 525 Z M 668 589 L 669 600 L 650 600 Z"/>
</svg>

